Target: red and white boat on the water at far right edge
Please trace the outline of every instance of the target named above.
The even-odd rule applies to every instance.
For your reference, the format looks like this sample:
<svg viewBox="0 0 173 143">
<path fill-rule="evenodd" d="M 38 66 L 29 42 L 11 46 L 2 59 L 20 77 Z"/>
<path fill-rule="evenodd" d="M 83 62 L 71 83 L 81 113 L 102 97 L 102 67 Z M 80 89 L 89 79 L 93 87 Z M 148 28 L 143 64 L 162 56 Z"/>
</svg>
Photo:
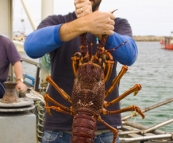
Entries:
<svg viewBox="0 0 173 143">
<path fill-rule="evenodd" d="M 173 50 L 173 31 L 170 36 L 165 36 L 164 39 L 160 40 L 160 44 L 166 50 Z"/>
</svg>

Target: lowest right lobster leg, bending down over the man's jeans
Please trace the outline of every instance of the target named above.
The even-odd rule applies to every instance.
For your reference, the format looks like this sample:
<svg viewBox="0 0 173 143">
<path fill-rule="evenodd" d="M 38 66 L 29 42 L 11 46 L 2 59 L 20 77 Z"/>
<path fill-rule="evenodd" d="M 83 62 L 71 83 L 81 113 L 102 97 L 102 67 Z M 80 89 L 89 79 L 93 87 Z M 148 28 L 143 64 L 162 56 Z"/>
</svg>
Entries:
<svg viewBox="0 0 173 143">
<path fill-rule="evenodd" d="M 113 136 L 112 143 L 116 143 L 116 137 L 117 137 L 117 135 L 118 135 L 117 129 L 114 128 L 114 127 L 112 127 L 112 126 L 110 126 L 109 124 L 107 124 L 107 123 L 101 118 L 101 116 L 98 116 L 97 120 L 98 120 L 99 122 L 101 122 L 103 125 L 105 125 L 107 128 L 109 128 L 109 129 L 113 132 L 114 136 Z"/>
</svg>

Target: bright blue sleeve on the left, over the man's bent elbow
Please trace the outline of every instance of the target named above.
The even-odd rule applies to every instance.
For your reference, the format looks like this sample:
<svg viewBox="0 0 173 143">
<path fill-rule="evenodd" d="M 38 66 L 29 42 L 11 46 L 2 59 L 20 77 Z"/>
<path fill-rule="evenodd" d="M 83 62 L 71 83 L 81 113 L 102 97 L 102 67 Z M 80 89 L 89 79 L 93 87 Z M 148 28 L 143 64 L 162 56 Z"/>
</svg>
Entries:
<svg viewBox="0 0 173 143">
<path fill-rule="evenodd" d="M 61 24 L 47 26 L 29 34 L 24 43 L 27 55 L 31 58 L 39 58 L 60 47 L 64 43 L 60 39 L 60 27 Z"/>
</svg>

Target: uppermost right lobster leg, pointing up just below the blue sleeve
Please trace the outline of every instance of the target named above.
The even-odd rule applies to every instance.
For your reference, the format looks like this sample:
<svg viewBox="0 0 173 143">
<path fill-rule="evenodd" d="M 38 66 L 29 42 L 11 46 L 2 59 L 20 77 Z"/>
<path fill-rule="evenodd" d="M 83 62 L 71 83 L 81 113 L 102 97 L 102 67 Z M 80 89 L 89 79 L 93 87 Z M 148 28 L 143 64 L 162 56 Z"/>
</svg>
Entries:
<svg viewBox="0 0 173 143">
<path fill-rule="evenodd" d="M 105 91 L 105 98 L 114 90 L 115 86 L 119 83 L 122 76 L 127 72 L 128 67 L 123 66 L 121 71 L 119 72 L 118 76 L 113 80 L 112 86 Z"/>
</svg>

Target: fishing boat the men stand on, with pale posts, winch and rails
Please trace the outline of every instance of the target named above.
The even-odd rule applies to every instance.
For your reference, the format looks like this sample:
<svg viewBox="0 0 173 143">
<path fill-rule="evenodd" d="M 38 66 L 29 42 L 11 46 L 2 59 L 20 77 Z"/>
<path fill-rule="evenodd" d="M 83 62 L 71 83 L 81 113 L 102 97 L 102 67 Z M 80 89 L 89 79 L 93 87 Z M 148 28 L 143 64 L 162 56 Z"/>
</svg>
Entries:
<svg viewBox="0 0 173 143">
<path fill-rule="evenodd" d="M 25 0 L 21 0 L 23 7 L 28 15 L 28 19 L 35 30 L 36 26 L 32 18 L 32 14 L 29 11 Z M 44 17 L 52 13 L 53 8 L 48 7 L 50 3 L 53 5 L 53 0 L 42 0 L 42 11 Z M 17 41 L 12 36 L 12 5 L 13 0 L 0 1 L 0 6 L 3 6 L 3 12 L 1 19 L 3 22 L 0 24 L 0 32 L 8 35 L 13 40 L 14 44 L 18 47 L 23 48 L 23 41 Z M 47 10 L 45 10 L 47 8 Z M 3 27 L 3 29 L 1 29 Z M 22 57 L 24 63 L 31 66 L 35 66 L 36 73 L 34 77 L 24 74 L 24 82 L 29 86 L 28 91 L 24 97 L 27 105 L 21 102 L 17 106 L 0 104 L 0 126 L 3 132 L 0 134 L 2 143 L 41 143 L 43 137 L 44 127 L 44 114 L 45 114 L 45 101 L 44 94 L 48 84 L 45 82 L 46 76 L 49 74 L 45 72 L 44 68 L 39 62 L 34 62 L 29 59 Z M 9 73 L 9 81 L 14 81 L 13 69 Z M 44 81 L 44 82 L 43 82 Z M 33 102 L 31 102 L 32 100 Z M 173 98 L 166 99 L 150 107 L 142 109 L 142 111 L 149 112 L 155 108 L 162 107 L 168 103 L 173 102 Z M 5 108 L 4 108 L 5 106 Z M 9 107 L 10 106 L 10 107 Z M 168 119 L 154 126 L 147 126 L 143 124 L 137 124 L 132 122 L 130 119 L 137 117 L 136 112 L 122 117 L 122 128 L 118 129 L 121 143 L 173 143 L 173 133 L 159 130 L 160 127 L 173 123 L 173 119 Z M 7 124 L 8 121 L 8 124 Z"/>
</svg>

